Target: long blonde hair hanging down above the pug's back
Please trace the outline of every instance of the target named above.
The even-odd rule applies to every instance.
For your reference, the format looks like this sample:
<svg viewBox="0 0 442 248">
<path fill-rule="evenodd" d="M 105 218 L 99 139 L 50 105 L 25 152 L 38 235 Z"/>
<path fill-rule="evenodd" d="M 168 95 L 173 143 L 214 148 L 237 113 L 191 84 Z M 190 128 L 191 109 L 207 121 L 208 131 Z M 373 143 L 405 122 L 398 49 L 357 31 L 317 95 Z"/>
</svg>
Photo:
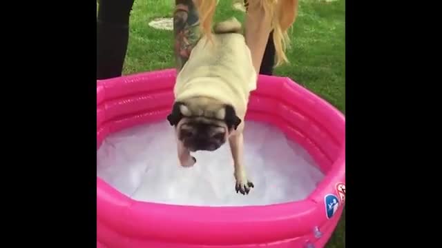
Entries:
<svg viewBox="0 0 442 248">
<path fill-rule="evenodd" d="M 244 2 L 244 0 L 232 0 L 233 3 Z M 275 44 L 276 66 L 287 63 L 285 51 L 290 45 L 290 38 L 287 34 L 291 25 L 295 22 L 298 14 L 298 0 L 249 0 L 260 1 L 265 14 L 271 19 L 273 30 L 273 43 Z M 217 0 L 194 0 L 200 17 L 200 30 L 202 35 L 211 39 L 211 26 Z"/>
</svg>

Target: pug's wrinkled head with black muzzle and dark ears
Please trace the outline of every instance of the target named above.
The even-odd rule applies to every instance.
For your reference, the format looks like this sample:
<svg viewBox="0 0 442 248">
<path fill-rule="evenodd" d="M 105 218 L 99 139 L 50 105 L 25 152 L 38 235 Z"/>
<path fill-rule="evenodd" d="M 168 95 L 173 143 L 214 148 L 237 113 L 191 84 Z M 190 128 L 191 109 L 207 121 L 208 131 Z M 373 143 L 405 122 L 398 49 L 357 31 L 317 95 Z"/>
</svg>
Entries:
<svg viewBox="0 0 442 248">
<path fill-rule="evenodd" d="M 175 125 L 178 141 L 191 152 L 218 149 L 241 122 L 233 107 L 202 98 L 176 102 L 167 119 Z"/>
</svg>

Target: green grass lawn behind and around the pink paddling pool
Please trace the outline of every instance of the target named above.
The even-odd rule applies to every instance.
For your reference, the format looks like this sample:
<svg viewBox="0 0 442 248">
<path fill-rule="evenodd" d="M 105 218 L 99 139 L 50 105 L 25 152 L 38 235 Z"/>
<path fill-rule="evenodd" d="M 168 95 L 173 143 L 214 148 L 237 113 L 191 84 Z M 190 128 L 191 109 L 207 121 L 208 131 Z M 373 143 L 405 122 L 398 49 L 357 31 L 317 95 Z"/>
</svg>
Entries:
<svg viewBox="0 0 442 248">
<path fill-rule="evenodd" d="M 216 19 L 232 14 L 243 19 L 243 13 L 232 12 L 230 3 L 220 1 Z M 171 17 L 173 5 L 173 0 L 135 1 L 124 74 L 173 68 L 172 32 L 148 26 L 155 17 Z M 291 63 L 274 74 L 290 77 L 345 114 L 345 0 L 300 0 L 291 40 Z M 327 247 L 345 247 L 345 211 Z"/>
</svg>

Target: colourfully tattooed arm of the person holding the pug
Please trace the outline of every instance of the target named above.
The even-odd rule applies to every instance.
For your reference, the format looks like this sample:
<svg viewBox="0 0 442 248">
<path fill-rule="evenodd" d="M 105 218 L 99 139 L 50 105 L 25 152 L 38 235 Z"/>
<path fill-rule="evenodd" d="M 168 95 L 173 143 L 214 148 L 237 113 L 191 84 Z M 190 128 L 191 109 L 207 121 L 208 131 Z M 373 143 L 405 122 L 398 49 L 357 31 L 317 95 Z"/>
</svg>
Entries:
<svg viewBox="0 0 442 248">
<path fill-rule="evenodd" d="M 175 0 L 173 35 L 176 68 L 179 72 L 200 39 L 198 11 L 192 0 Z"/>
</svg>

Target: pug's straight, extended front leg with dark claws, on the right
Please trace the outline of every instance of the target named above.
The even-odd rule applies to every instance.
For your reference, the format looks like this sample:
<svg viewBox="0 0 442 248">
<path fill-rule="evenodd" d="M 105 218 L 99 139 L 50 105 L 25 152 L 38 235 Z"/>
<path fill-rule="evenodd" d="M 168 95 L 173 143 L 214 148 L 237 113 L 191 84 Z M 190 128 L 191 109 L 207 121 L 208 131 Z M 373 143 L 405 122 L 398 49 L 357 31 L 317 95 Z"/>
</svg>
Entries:
<svg viewBox="0 0 442 248">
<path fill-rule="evenodd" d="M 233 157 L 233 166 L 235 167 L 236 193 L 249 194 L 250 189 L 254 187 L 253 183 L 247 179 L 244 160 L 242 158 L 244 147 L 244 136 L 242 133 L 234 134 L 229 137 L 230 150 Z"/>
</svg>

